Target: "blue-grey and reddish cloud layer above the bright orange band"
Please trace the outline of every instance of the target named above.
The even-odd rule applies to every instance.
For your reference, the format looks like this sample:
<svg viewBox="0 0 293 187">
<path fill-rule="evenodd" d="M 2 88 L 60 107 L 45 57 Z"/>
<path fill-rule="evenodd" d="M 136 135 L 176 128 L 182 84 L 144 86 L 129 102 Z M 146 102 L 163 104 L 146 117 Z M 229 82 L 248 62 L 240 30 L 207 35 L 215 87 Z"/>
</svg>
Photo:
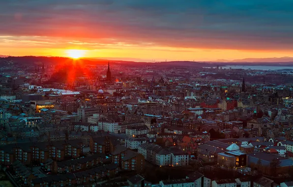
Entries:
<svg viewBox="0 0 293 187">
<path fill-rule="evenodd" d="M 291 50 L 292 7 L 292 0 L 0 0 L 0 35 Z"/>
</svg>

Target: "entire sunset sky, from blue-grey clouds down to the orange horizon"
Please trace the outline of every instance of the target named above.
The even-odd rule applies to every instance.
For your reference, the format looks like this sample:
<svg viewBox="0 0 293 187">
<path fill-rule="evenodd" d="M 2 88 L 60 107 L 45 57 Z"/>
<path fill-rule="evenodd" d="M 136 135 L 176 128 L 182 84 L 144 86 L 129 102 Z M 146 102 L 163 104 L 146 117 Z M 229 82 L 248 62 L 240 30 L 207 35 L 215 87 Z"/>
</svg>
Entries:
<svg viewBox="0 0 293 187">
<path fill-rule="evenodd" d="M 293 56 L 293 0 L 0 0 L 0 55 Z"/>
</svg>

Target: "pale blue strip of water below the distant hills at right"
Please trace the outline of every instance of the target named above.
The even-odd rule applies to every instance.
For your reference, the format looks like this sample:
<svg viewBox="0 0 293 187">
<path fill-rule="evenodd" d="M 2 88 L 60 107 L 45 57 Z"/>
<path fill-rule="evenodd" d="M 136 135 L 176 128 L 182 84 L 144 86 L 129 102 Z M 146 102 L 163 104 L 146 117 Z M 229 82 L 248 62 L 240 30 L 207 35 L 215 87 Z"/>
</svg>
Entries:
<svg viewBox="0 0 293 187">
<path fill-rule="evenodd" d="M 287 71 L 293 71 L 293 66 L 263 66 L 263 65 L 227 65 L 219 66 L 222 69 L 251 69 L 251 70 L 280 70 L 286 69 Z M 204 67 L 204 68 L 216 68 L 216 67 Z"/>
</svg>

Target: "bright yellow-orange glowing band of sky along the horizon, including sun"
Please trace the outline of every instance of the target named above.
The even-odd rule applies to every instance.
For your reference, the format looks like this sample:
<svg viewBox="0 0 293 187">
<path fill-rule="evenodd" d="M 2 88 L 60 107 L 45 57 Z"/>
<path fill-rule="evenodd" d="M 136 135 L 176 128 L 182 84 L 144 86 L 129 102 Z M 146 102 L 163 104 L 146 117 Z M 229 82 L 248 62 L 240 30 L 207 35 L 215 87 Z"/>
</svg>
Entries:
<svg viewBox="0 0 293 187">
<path fill-rule="evenodd" d="M 107 43 L 108 42 L 108 43 Z M 33 51 L 33 53 L 32 53 Z M 88 40 L 60 37 L 29 37 L 1 36 L 0 55 L 4 56 L 54 56 L 79 58 L 101 58 L 133 62 L 165 62 L 165 61 L 215 61 L 218 59 L 235 60 L 245 58 L 280 58 L 290 57 L 292 49 L 288 50 L 253 50 L 253 49 L 221 49 L 188 48 L 161 46 L 157 44 L 126 43 L 123 41 Z"/>
</svg>

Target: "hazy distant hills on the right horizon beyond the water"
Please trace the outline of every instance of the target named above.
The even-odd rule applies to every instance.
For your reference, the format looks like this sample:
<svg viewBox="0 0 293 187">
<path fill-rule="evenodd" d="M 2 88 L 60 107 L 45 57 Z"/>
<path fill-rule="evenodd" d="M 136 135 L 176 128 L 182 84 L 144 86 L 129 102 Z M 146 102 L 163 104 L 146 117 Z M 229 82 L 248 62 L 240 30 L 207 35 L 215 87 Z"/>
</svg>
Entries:
<svg viewBox="0 0 293 187">
<path fill-rule="evenodd" d="M 238 59 L 238 60 L 216 60 L 213 62 L 293 62 L 293 57 L 281 57 L 281 58 L 248 58 L 248 59 Z"/>
</svg>

